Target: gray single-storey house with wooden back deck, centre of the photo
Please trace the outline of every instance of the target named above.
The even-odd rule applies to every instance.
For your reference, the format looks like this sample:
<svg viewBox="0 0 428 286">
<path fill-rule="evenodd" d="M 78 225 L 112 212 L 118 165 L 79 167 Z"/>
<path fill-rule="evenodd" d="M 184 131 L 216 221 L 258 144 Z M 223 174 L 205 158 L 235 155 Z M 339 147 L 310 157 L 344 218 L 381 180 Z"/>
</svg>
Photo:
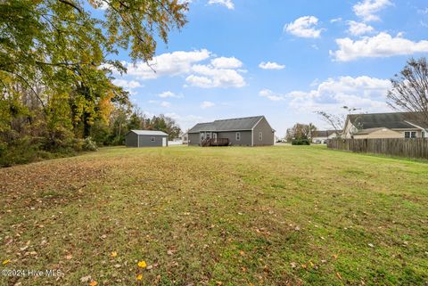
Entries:
<svg viewBox="0 0 428 286">
<path fill-rule="evenodd" d="M 264 116 L 198 123 L 188 132 L 189 145 L 267 146 L 274 144 L 275 130 Z"/>
</svg>

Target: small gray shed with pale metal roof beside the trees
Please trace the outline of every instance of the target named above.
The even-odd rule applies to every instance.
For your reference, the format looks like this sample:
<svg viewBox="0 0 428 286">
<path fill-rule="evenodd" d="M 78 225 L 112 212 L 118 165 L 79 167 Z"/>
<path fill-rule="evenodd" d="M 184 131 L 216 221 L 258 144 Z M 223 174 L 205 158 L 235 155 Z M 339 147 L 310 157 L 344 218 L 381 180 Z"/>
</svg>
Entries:
<svg viewBox="0 0 428 286">
<path fill-rule="evenodd" d="M 168 134 L 154 130 L 131 130 L 125 135 L 127 147 L 166 147 Z"/>
</svg>

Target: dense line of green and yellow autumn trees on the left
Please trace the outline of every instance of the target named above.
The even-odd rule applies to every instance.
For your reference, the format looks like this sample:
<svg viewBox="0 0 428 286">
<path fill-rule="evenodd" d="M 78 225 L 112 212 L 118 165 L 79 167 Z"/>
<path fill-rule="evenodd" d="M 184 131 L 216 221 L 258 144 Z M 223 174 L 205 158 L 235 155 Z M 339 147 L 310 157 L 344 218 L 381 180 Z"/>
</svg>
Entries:
<svg viewBox="0 0 428 286">
<path fill-rule="evenodd" d="M 131 127 L 177 135 L 171 118 L 132 111 L 112 69 L 126 72 L 119 50 L 149 63 L 186 10 L 176 0 L 2 1 L 0 165 L 80 151 L 88 138 L 121 143 Z"/>
</svg>

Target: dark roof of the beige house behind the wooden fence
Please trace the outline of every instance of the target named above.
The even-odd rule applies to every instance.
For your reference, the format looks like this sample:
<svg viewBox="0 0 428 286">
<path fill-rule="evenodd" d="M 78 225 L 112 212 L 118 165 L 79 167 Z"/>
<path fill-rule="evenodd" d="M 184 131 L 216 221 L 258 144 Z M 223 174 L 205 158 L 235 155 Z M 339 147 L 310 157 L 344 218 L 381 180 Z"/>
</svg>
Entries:
<svg viewBox="0 0 428 286">
<path fill-rule="evenodd" d="M 428 128 L 428 124 L 421 122 L 416 112 L 350 114 L 348 117 L 353 126 L 361 129 L 415 129 L 416 126 Z"/>
</svg>

